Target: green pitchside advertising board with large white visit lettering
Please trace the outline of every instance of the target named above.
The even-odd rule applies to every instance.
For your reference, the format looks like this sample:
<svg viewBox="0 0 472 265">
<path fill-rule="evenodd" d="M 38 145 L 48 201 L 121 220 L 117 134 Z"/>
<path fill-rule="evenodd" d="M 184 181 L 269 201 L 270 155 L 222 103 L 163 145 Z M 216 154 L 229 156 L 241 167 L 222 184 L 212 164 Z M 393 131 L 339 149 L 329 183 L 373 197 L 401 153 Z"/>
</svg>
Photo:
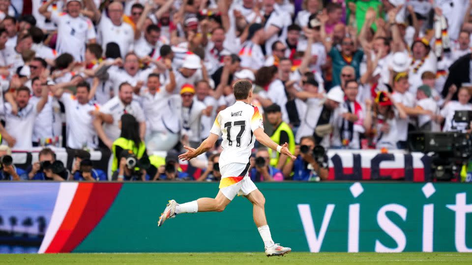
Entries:
<svg viewBox="0 0 472 265">
<path fill-rule="evenodd" d="M 275 242 L 294 251 L 472 251 L 472 185 L 258 183 Z M 252 205 L 182 214 L 169 199 L 214 197 L 217 183 L 0 183 L 0 253 L 263 251 Z M 236 246 L 236 247 L 235 247 Z"/>
</svg>

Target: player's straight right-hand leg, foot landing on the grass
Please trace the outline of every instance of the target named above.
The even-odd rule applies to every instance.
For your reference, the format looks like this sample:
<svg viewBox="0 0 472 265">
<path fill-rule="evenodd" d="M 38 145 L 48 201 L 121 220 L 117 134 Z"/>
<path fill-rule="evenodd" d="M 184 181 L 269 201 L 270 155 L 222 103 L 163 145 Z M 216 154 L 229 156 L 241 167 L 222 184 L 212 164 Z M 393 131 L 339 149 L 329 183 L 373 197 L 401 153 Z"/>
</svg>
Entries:
<svg viewBox="0 0 472 265">
<path fill-rule="evenodd" d="M 254 184 L 252 183 L 252 185 Z M 244 186 L 247 186 L 247 185 L 243 184 L 243 187 Z M 253 205 L 254 223 L 256 223 L 257 230 L 259 231 L 259 234 L 261 235 L 261 238 L 264 241 L 266 255 L 267 256 L 283 256 L 289 253 L 290 251 L 292 251 L 291 248 L 283 247 L 283 246 L 280 246 L 279 244 L 275 244 L 274 241 L 272 240 L 272 236 L 270 235 L 270 229 L 269 229 L 269 226 L 267 225 L 267 220 L 266 220 L 266 210 L 265 210 L 266 198 L 264 197 L 262 192 L 259 189 L 255 189 L 249 192 L 249 194 L 246 195 L 246 198 Z"/>
</svg>

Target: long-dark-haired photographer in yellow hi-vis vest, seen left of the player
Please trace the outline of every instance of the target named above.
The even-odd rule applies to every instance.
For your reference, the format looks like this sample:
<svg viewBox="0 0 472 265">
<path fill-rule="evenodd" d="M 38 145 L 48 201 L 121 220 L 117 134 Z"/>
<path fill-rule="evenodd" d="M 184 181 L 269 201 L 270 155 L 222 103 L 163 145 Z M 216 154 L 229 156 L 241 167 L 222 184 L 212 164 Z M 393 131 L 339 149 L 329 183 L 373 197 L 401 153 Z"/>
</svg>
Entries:
<svg viewBox="0 0 472 265">
<path fill-rule="evenodd" d="M 145 180 L 147 168 L 140 167 L 139 162 L 149 164 L 149 158 L 146 144 L 139 135 L 138 121 L 131 114 L 123 114 L 118 127 L 121 134 L 112 146 L 112 180 Z"/>
</svg>

